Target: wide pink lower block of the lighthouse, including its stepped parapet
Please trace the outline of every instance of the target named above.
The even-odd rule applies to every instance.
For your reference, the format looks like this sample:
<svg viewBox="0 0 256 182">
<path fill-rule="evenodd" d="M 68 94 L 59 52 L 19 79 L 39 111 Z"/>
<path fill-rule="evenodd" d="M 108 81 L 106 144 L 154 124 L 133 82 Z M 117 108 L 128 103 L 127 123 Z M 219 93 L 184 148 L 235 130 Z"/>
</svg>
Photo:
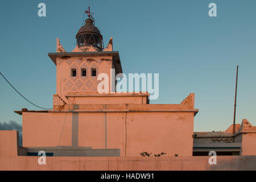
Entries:
<svg viewBox="0 0 256 182">
<path fill-rule="evenodd" d="M 144 151 L 192 156 L 195 94 L 180 104 L 145 104 L 147 94 L 141 93 L 97 96 L 101 102 L 107 102 L 106 97 L 114 104 L 64 104 L 49 113 L 23 112 L 23 146 L 114 148 L 121 156 Z M 126 103 L 133 100 L 139 104 Z"/>
</svg>

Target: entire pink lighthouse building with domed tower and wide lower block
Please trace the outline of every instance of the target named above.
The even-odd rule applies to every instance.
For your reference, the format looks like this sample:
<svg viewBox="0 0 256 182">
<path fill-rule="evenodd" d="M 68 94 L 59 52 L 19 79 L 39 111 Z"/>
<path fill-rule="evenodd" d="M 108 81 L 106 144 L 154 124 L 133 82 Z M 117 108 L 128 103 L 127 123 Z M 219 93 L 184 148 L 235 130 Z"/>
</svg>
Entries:
<svg viewBox="0 0 256 182">
<path fill-rule="evenodd" d="M 149 104 L 149 94 L 115 92 L 122 77 L 113 39 L 104 47 L 92 13 L 76 34 L 71 52 L 57 38 L 53 109 L 15 111 L 22 115 L 23 147 L 53 156 L 140 156 L 143 151 L 166 156 L 192 156 L 195 96 L 180 104 Z M 109 92 L 98 92 L 104 84 Z M 124 77 L 124 76 L 123 76 Z"/>
</svg>

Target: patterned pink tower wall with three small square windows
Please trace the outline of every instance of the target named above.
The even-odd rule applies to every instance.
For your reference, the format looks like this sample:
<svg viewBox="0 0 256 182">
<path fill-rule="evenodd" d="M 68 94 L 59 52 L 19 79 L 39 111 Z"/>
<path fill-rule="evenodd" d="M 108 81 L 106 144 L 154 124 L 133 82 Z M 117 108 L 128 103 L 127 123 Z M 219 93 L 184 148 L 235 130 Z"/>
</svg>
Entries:
<svg viewBox="0 0 256 182">
<path fill-rule="evenodd" d="M 71 76 L 71 69 L 76 68 L 76 77 Z M 86 77 L 81 76 L 81 69 L 86 68 Z M 113 68 L 112 56 L 67 57 L 56 59 L 56 93 L 67 102 L 68 92 L 97 92 L 100 81 L 97 76 L 91 76 L 91 68 L 97 69 L 97 76 L 105 73 L 109 76 Z"/>
</svg>

